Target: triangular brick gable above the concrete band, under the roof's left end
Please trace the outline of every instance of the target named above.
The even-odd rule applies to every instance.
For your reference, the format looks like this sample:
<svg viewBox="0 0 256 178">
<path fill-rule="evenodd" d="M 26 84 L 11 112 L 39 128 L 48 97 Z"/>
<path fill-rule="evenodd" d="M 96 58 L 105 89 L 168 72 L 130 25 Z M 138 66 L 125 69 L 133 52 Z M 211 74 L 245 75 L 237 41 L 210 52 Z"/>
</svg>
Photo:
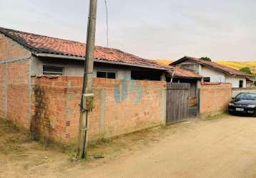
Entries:
<svg viewBox="0 0 256 178">
<path fill-rule="evenodd" d="M 10 38 L 0 34 L 0 60 L 27 56 L 29 53 Z"/>
</svg>

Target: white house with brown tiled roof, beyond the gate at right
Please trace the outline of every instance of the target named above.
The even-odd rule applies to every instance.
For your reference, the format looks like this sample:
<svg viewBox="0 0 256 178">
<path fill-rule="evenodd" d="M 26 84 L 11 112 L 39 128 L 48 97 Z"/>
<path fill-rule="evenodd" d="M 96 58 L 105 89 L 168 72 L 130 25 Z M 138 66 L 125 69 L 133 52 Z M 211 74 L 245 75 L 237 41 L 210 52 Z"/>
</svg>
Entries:
<svg viewBox="0 0 256 178">
<path fill-rule="evenodd" d="M 180 66 L 193 70 L 195 73 L 203 76 L 204 82 L 232 83 L 233 88 L 246 88 L 246 79 L 254 77 L 240 70 L 188 56 L 171 63 L 170 66 Z"/>
</svg>

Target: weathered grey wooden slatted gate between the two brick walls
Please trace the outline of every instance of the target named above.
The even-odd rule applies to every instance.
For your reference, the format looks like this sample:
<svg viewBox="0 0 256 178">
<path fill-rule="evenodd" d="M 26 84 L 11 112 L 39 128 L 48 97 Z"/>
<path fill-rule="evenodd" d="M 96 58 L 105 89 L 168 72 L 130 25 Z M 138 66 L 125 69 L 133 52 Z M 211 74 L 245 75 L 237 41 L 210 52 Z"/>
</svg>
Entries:
<svg viewBox="0 0 256 178">
<path fill-rule="evenodd" d="M 189 83 L 167 83 L 167 125 L 189 119 Z"/>
</svg>

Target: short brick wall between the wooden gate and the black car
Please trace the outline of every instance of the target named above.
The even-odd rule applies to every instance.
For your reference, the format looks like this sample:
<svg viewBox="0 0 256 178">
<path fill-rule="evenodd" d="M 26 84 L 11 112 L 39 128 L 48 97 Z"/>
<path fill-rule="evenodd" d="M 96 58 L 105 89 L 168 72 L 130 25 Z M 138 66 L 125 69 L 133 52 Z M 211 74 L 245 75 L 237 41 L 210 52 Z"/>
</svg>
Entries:
<svg viewBox="0 0 256 178">
<path fill-rule="evenodd" d="M 231 83 L 204 83 L 200 88 L 200 114 L 204 116 L 224 112 L 231 99 Z"/>
</svg>

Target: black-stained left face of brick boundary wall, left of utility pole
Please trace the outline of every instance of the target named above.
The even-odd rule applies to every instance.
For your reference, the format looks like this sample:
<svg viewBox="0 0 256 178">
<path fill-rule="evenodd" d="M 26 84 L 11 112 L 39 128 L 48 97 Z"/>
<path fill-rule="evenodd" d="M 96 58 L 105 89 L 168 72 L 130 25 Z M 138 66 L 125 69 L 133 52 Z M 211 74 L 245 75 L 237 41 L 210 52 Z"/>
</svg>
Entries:
<svg viewBox="0 0 256 178">
<path fill-rule="evenodd" d="M 64 140 L 67 80 L 33 78 L 32 83 L 32 132 L 38 138 Z"/>
</svg>

